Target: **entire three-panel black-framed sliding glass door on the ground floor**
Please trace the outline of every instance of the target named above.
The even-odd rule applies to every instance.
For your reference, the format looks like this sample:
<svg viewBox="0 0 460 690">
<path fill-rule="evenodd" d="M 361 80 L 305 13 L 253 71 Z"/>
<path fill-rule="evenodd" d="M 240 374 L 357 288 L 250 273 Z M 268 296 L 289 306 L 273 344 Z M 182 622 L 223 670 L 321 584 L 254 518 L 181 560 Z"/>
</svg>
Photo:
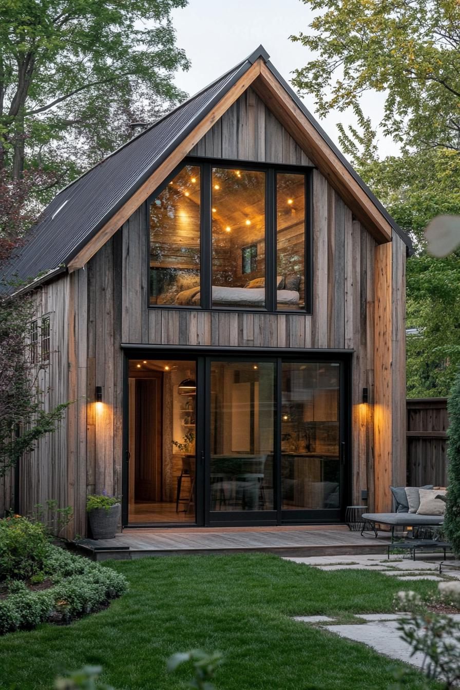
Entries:
<svg viewBox="0 0 460 690">
<path fill-rule="evenodd" d="M 343 519 L 345 362 L 163 355 L 127 371 L 124 524 Z"/>
</svg>

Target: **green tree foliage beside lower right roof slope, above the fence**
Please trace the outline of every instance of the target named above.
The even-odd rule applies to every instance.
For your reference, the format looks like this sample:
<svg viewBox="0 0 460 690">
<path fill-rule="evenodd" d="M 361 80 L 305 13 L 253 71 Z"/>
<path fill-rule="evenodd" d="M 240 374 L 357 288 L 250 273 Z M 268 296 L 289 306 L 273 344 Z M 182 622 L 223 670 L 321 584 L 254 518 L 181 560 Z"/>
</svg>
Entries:
<svg viewBox="0 0 460 690">
<path fill-rule="evenodd" d="M 460 366 L 460 253 L 446 259 L 426 254 L 423 229 L 437 215 L 460 213 L 460 155 L 430 149 L 379 160 L 374 135 L 341 128 L 342 148 L 412 235 L 417 254 L 407 263 L 409 397 L 448 395 Z M 360 148 L 358 148 L 360 145 Z"/>
</svg>

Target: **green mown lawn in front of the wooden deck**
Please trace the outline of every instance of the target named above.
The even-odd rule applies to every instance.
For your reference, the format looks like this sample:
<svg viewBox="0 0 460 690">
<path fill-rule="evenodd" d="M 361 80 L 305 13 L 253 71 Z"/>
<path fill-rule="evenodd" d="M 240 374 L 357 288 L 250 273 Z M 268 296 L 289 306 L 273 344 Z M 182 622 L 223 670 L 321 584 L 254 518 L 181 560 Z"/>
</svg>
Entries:
<svg viewBox="0 0 460 690">
<path fill-rule="evenodd" d="M 103 680 L 119 690 L 177 690 L 190 672 L 168 674 L 166 659 L 197 648 L 224 653 L 219 690 L 386 690 L 390 660 L 289 617 L 388 612 L 400 589 L 422 595 L 435 589 L 433 582 L 327 573 L 262 554 L 144 558 L 108 567 L 126 575 L 130 591 L 106 611 L 68 627 L 42 624 L 0 638 L 1 690 L 48 689 L 57 673 L 83 664 L 101 664 Z M 421 687 L 416 671 L 408 687 Z"/>
</svg>

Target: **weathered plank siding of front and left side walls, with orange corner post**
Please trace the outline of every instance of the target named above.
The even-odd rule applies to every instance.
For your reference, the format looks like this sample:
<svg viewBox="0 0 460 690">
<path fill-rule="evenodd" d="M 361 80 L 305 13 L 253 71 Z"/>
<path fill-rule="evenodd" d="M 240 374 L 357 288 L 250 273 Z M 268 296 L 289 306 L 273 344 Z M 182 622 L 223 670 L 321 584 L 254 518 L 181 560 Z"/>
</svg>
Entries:
<svg viewBox="0 0 460 690">
<path fill-rule="evenodd" d="M 308 152 L 252 89 L 190 155 L 310 165 Z M 120 344 L 129 342 L 263 347 L 268 352 L 275 347 L 287 352 L 290 348 L 353 350 L 351 498 L 361 503 L 361 491 L 368 489 L 370 509 L 390 508 L 388 486 L 403 481 L 405 473 L 401 407 L 405 246 L 398 237 L 377 246 L 326 177 L 318 170 L 313 175 L 312 314 L 148 308 L 145 204 L 85 268 L 42 289 L 46 310 L 54 314 L 55 352 L 50 379 L 44 381 L 45 387 L 50 385 L 49 404 L 76 402 L 69 408 L 66 426 L 42 440 L 39 450 L 23 460 L 23 506 L 30 508 L 49 497 L 60 504 L 71 502 L 74 531 L 84 534 L 87 491 L 121 493 Z M 96 386 L 102 386 L 101 411 L 94 404 Z M 368 405 L 361 404 L 364 387 L 369 389 Z M 11 482 L 11 478 L 3 480 L 3 493 L 11 493 Z"/>
</svg>

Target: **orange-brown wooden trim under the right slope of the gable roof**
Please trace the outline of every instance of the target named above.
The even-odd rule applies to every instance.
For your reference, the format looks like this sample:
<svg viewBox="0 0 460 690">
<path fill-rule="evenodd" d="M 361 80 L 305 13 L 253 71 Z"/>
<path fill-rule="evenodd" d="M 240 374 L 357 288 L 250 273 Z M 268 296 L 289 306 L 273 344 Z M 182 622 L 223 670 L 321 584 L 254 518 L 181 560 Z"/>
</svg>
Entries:
<svg viewBox="0 0 460 690">
<path fill-rule="evenodd" d="M 252 88 L 303 148 L 377 242 L 391 242 L 392 227 L 265 63 Z"/>
</svg>

